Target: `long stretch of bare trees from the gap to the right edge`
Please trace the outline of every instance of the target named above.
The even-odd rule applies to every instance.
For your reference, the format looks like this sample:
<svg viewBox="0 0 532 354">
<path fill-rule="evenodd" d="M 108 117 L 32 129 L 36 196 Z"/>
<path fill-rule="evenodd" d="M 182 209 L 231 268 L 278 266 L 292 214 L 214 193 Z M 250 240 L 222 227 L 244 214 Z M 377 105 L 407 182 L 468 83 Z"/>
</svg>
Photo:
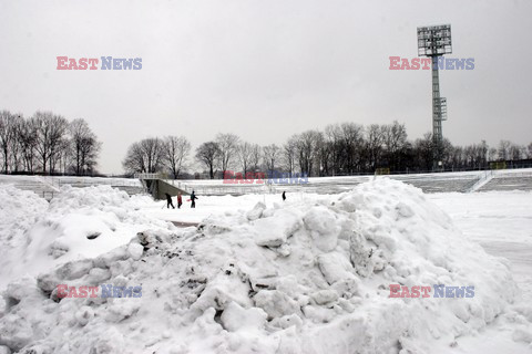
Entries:
<svg viewBox="0 0 532 354">
<path fill-rule="evenodd" d="M 283 145 L 260 146 L 234 134 L 218 134 L 200 145 L 191 156 L 190 142 L 181 136 L 146 138 L 130 146 L 123 167 L 127 174 L 167 173 L 173 178 L 193 176 L 222 178 L 225 170 L 304 173 L 308 176 L 346 176 L 375 173 L 430 171 L 436 153 L 432 134 L 409 140 L 405 124 L 331 124 L 321 131 L 293 135 Z M 532 143 L 526 147 L 501 140 L 490 147 L 485 142 L 453 146 L 443 140 L 439 169 L 489 168 L 489 162 L 532 158 Z M 196 165 L 197 166 L 197 165 Z"/>
</svg>

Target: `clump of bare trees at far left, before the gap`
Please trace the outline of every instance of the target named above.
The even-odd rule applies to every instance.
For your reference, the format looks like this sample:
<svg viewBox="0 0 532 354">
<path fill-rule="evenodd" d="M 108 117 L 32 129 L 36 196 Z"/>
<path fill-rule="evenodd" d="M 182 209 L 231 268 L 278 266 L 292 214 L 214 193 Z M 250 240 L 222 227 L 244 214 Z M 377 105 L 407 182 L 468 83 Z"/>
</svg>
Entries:
<svg viewBox="0 0 532 354">
<path fill-rule="evenodd" d="M 69 122 L 52 112 L 22 114 L 0 111 L 1 170 L 19 173 L 65 173 L 93 175 L 101 143 L 78 118 Z"/>
</svg>

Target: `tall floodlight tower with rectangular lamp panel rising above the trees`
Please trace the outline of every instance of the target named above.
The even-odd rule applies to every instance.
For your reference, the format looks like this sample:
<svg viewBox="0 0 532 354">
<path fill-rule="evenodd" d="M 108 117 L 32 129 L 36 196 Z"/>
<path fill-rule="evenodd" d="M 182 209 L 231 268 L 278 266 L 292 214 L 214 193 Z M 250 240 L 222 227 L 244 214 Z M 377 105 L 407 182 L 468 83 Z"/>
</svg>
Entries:
<svg viewBox="0 0 532 354">
<path fill-rule="evenodd" d="M 434 143 L 433 168 L 441 165 L 443 134 L 441 122 L 447 121 L 447 100 L 440 97 L 438 75 L 439 58 L 452 53 L 451 25 L 418 27 L 418 56 L 432 59 L 432 139 Z"/>
</svg>

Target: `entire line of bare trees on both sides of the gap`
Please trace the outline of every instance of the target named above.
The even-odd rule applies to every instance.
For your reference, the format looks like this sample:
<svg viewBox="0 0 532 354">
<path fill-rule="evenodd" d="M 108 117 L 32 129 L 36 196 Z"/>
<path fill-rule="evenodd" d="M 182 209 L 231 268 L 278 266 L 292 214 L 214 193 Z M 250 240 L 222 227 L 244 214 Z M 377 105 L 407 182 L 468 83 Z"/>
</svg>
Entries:
<svg viewBox="0 0 532 354">
<path fill-rule="evenodd" d="M 96 175 L 101 143 L 82 119 L 69 122 L 52 112 L 30 117 L 0 111 L 0 170 L 7 174 Z M 133 143 L 122 162 L 127 175 L 166 173 L 172 178 L 222 178 L 226 170 L 286 171 L 308 176 L 417 173 L 433 169 L 432 135 L 409 140 L 405 124 L 331 124 L 306 131 L 285 144 L 260 146 L 234 134 L 218 134 L 195 152 L 184 136 L 152 137 Z M 491 162 L 532 158 L 528 146 L 501 140 L 467 146 L 444 139 L 438 169 L 493 168 Z M 503 166 L 503 165 L 497 165 Z M 512 166 L 512 164 L 504 164 Z"/>
</svg>

